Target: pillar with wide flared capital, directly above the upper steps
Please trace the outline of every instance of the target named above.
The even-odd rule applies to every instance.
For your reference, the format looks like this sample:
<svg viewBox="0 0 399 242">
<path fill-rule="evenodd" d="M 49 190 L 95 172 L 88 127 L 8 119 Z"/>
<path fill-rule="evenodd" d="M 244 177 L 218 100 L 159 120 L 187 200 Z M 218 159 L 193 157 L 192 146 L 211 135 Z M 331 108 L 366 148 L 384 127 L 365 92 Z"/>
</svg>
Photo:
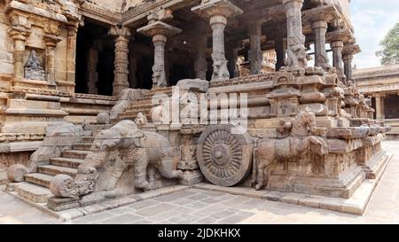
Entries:
<svg viewBox="0 0 399 242">
<path fill-rule="evenodd" d="M 168 36 L 181 33 L 182 30 L 153 18 L 151 17 L 148 25 L 137 29 L 137 32 L 153 37 L 153 88 L 162 88 L 168 85 L 165 73 L 165 45 Z"/>
</svg>

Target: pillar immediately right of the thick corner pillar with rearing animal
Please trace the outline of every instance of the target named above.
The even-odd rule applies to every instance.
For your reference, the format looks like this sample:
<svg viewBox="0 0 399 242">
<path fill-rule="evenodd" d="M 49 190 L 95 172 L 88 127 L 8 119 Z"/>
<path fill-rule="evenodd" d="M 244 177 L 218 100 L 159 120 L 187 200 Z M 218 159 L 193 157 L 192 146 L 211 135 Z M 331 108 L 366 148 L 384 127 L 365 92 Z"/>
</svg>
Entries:
<svg viewBox="0 0 399 242">
<path fill-rule="evenodd" d="M 327 51 L 325 51 L 325 33 L 327 32 L 327 22 L 317 20 L 312 22 L 312 30 L 315 38 L 315 66 L 322 67 L 326 72 L 331 69 Z"/>
</svg>

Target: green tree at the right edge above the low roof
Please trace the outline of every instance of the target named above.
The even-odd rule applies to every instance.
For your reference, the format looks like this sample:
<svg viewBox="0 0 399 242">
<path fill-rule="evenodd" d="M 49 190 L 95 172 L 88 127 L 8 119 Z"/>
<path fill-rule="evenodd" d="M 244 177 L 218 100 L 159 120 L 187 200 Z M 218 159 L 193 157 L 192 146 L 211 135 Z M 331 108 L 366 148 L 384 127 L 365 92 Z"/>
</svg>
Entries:
<svg viewBox="0 0 399 242">
<path fill-rule="evenodd" d="M 399 23 L 389 30 L 379 45 L 382 50 L 375 54 L 381 57 L 383 66 L 399 64 Z"/>
</svg>

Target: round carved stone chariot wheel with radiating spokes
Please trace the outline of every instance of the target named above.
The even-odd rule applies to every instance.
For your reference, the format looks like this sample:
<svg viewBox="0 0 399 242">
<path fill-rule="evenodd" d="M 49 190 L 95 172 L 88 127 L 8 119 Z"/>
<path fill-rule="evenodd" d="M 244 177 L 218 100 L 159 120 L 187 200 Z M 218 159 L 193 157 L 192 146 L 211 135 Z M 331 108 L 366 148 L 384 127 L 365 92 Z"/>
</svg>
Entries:
<svg viewBox="0 0 399 242">
<path fill-rule="evenodd" d="M 214 125 L 200 136 L 197 160 L 202 174 L 215 185 L 241 183 L 252 168 L 252 138 L 232 125 Z"/>
</svg>

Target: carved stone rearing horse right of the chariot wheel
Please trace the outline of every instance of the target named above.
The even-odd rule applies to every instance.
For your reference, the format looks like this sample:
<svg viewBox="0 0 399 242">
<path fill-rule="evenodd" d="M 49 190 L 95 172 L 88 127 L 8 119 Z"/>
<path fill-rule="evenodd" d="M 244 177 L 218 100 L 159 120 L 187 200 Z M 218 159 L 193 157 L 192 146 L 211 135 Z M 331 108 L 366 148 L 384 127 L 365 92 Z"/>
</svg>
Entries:
<svg viewBox="0 0 399 242">
<path fill-rule="evenodd" d="M 261 190 L 267 185 L 269 170 L 277 161 L 299 158 L 306 152 L 324 156 L 328 152 L 327 143 L 322 137 L 314 136 L 321 129 L 317 128 L 316 115 L 309 108 L 299 113 L 293 121 L 282 123 L 278 128 L 285 137 L 263 138 L 254 149 L 254 171 L 252 183 Z"/>
</svg>

